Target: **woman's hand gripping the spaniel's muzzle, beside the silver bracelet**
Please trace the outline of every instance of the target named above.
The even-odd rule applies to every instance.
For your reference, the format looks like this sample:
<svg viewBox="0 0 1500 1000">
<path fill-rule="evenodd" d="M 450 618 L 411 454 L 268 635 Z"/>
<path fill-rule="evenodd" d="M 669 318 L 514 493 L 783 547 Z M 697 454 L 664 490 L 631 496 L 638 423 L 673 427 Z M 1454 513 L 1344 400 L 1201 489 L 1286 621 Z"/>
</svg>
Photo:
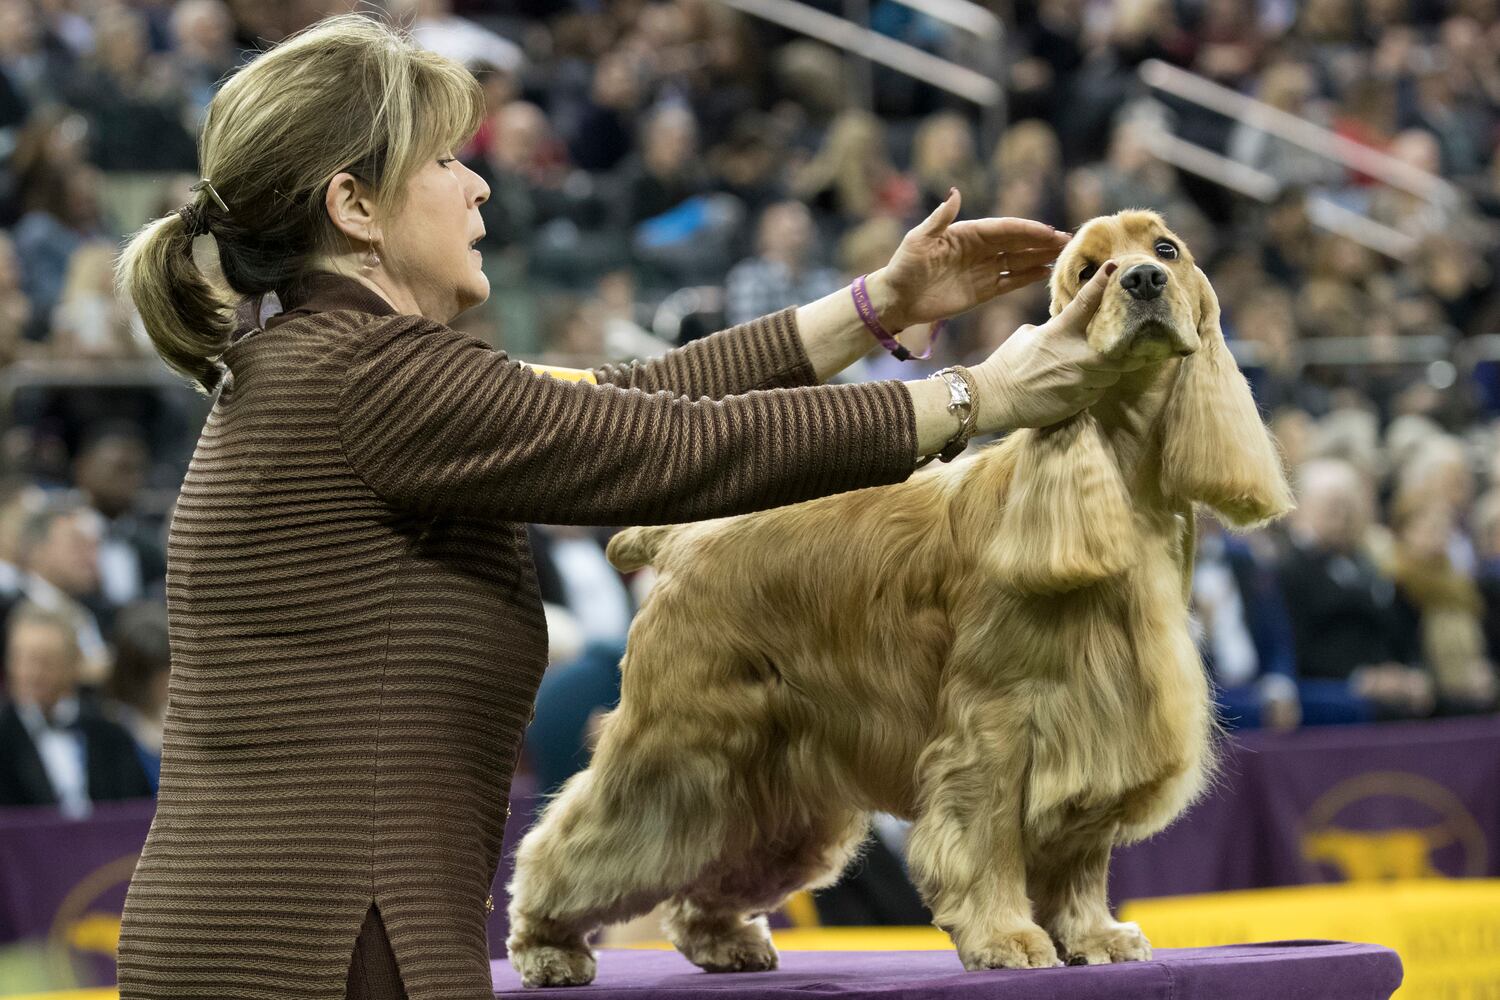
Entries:
<svg viewBox="0 0 1500 1000">
<path fill-rule="evenodd" d="M 1143 364 L 1106 360 L 1088 328 L 1116 270 L 1106 261 L 1062 312 L 1040 327 L 1018 327 L 972 372 L 980 390 L 980 433 L 1046 427 L 1092 406 L 1120 375 Z"/>
</svg>

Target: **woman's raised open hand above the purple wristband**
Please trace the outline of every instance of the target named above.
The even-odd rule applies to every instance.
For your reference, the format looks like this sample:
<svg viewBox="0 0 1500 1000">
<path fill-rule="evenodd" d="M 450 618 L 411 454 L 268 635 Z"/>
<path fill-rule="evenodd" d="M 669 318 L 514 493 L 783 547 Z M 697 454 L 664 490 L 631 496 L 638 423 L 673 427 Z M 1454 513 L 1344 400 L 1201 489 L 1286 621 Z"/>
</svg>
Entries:
<svg viewBox="0 0 1500 1000">
<path fill-rule="evenodd" d="M 1065 232 L 1028 219 L 954 222 L 958 201 L 954 189 L 906 234 L 891 262 L 866 280 L 880 324 L 891 333 L 1040 282 L 1068 243 Z"/>
</svg>

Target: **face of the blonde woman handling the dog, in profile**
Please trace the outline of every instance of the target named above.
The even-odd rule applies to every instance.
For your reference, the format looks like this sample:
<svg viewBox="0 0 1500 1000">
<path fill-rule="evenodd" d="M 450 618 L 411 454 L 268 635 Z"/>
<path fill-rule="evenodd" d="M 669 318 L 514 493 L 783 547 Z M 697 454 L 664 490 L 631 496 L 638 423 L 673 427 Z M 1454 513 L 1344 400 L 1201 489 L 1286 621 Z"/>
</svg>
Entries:
<svg viewBox="0 0 1500 1000">
<path fill-rule="evenodd" d="M 484 232 L 478 205 L 489 186 L 447 153 L 411 180 L 406 204 L 380 232 L 381 264 L 370 279 L 398 307 L 411 307 L 438 322 L 489 298 L 489 279 L 478 250 Z"/>
</svg>

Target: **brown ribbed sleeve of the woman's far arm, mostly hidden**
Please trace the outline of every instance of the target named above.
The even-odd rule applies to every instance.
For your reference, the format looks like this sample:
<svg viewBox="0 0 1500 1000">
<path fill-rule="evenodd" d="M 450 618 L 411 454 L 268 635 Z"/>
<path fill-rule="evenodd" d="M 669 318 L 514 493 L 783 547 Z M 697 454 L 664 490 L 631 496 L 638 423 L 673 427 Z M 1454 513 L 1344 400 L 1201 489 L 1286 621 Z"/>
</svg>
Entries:
<svg viewBox="0 0 1500 1000">
<path fill-rule="evenodd" d="M 597 367 L 594 375 L 621 388 L 664 388 L 688 399 L 818 384 L 796 331 L 796 306 L 720 330 L 651 361 Z"/>
</svg>

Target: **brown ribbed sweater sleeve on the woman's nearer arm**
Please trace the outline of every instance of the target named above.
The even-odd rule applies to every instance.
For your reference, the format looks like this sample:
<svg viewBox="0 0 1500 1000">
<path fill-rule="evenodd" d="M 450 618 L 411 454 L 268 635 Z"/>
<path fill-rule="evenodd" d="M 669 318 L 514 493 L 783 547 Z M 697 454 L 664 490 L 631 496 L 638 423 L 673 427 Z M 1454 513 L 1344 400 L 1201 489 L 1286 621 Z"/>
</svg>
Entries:
<svg viewBox="0 0 1500 1000">
<path fill-rule="evenodd" d="M 339 388 L 350 466 L 423 514 L 648 525 L 780 507 L 910 475 L 900 382 L 722 400 L 567 382 L 420 316 L 362 336 Z"/>
</svg>

